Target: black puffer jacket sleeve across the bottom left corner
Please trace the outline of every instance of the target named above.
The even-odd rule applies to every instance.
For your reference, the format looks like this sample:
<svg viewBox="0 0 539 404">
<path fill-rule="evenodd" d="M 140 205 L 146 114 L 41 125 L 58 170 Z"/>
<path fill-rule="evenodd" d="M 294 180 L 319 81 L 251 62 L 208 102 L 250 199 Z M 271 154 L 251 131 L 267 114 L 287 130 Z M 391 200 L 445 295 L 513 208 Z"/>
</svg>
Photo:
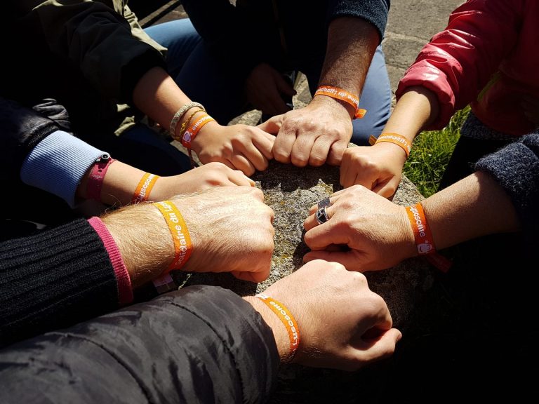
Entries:
<svg viewBox="0 0 539 404">
<path fill-rule="evenodd" d="M 250 304 L 192 286 L 0 351 L 0 402 L 264 403 L 278 365 Z"/>
</svg>

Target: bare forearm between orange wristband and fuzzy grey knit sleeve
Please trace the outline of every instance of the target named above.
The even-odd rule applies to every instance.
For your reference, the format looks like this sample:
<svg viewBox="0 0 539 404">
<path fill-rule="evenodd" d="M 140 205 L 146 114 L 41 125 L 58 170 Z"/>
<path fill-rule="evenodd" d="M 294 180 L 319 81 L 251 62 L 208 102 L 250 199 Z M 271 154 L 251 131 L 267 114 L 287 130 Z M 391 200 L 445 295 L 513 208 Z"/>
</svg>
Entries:
<svg viewBox="0 0 539 404">
<path fill-rule="evenodd" d="M 422 206 L 438 249 L 521 229 L 511 199 L 486 173 L 460 180 L 422 201 Z"/>
</svg>

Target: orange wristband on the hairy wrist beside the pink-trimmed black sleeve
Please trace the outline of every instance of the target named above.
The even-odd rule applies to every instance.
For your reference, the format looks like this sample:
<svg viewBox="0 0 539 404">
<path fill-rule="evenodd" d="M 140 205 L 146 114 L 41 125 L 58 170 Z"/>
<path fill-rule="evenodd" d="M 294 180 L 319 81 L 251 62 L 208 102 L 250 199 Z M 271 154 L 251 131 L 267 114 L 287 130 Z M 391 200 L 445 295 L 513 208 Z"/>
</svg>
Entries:
<svg viewBox="0 0 539 404">
<path fill-rule="evenodd" d="M 185 220 L 183 220 L 180 210 L 176 208 L 174 203 L 162 201 L 153 203 L 153 205 L 159 209 L 159 212 L 165 218 L 174 243 L 174 260 L 168 266 L 168 269 L 161 274 L 161 276 L 164 276 L 169 271 L 181 269 L 185 265 L 191 256 L 193 244 Z"/>
</svg>

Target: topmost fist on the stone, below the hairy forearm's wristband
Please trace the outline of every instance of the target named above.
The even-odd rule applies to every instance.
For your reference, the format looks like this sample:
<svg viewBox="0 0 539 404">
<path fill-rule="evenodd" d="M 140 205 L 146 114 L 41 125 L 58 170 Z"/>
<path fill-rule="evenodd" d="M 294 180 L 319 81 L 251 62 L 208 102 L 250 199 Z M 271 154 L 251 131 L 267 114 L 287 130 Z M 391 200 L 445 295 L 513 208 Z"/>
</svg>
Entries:
<svg viewBox="0 0 539 404">
<path fill-rule="evenodd" d="M 277 135 L 273 145 L 277 161 L 298 167 L 326 162 L 338 166 L 352 137 L 350 113 L 325 96 L 315 97 L 307 107 L 274 116 L 258 128 Z"/>
</svg>

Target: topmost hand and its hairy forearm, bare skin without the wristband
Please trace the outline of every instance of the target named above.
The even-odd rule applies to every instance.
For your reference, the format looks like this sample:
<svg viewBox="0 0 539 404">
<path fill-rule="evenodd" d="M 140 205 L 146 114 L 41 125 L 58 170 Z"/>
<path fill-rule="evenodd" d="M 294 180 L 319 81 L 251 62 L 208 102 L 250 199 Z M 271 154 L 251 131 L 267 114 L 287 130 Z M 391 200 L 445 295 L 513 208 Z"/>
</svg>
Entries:
<svg viewBox="0 0 539 404">
<path fill-rule="evenodd" d="M 319 85 L 361 94 L 376 46 L 378 31 L 361 18 L 335 18 L 328 29 L 326 59 Z M 274 116 L 258 128 L 276 135 L 274 158 L 295 166 L 339 165 L 352 138 L 352 105 L 316 95 L 307 107 Z"/>
</svg>

